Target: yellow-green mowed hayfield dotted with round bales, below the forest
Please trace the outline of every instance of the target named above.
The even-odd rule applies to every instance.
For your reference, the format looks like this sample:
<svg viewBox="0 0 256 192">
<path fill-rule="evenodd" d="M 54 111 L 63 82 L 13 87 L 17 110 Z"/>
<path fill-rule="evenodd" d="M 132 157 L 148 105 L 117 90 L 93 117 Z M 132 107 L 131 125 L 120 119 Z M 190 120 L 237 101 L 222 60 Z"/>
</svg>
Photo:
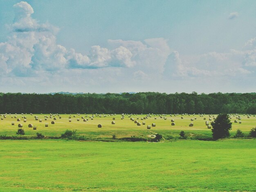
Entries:
<svg viewBox="0 0 256 192">
<path fill-rule="evenodd" d="M 73 116 L 76 117 L 73 117 Z M 13 116 L 13 118 L 11 118 Z M 20 118 L 21 121 L 17 122 L 17 118 L 14 118 L 14 116 L 17 116 L 17 118 Z M 27 117 L 27 122 L 23 122 L 22 116 Z M 38 116 L 38 119 L 42 119 L 42 123 L 35 120 L 34 116 Z M 181 115 L 178 116 L 170 116 L 167 115 L 167 120 L 164 120 L 164 118 L 160 118 L 159 116 L 156 116 L 157 119 L 154 119 L 155 116 L 152 115 L 152 117 L 148 117 L 148 119 L 141 120 L 141 118 L 145 117 L 146 115 L 132 115 L 131 117 L 137 120 L 137 117 L 139 120 L 138 122 L 141 123 L 141 126 L 137 126 L 137 124 L 134 123 L 134 121 L 130 121 L 130 118 L 128 115 L 125 116 L 123 120 L 121 120 L 121 115 L 115 115 L 115 116 L 106 116 L 106 117 L 99 117 L 94 116 L 94 119 L 91 120 L 89 116 L 91 114 L 88 114 L 89 121 L 83 122 L 82 116 L 85 117 L 84 114 L 81 114 L 80 116 L 76 114 L 71 115 L 72 122 L 69 122 L 69 114 L 64 115 L 61 114 L 61 119 L 59 116 L 56 116 L 56 120 L 53 120 L 53 118 L 47 118 L 45 121 L 44 116 L 49 116 L 49 114 L 27 114 L 27 115 L 7 115 L 7 118 L 4 118 L 4 120 L 0 120 L 0 135 L 6 134 L 7 136 L 15 136 L 16 131 L 18 129 L 18 123 L 21 123 L 23 125 L 23 128 L 25 129 L 25 136 L 36 136 L 36 132 L 40 132 L 44 134 L 45 136 L 55 136 L 59 137 L 63 132 L 65 132 L 66 129 L 77 130 L 77 133 L 85 136 L 90 136 L 92 138 L 95 137 L 101 137 L 101 138 L 111 138 L 112 134 L 116 134 L 117 138 L 126 137 L 126 136 L 142 136 L 147 137 L 151 133 L 160 133 L 164 134 L 164 136 L 170 136 L 170 135 L 176 135 L 178 136 L 179 132 L 181 130 L 184 130 L 186 133 L 189 133 L 190 135 L 199 134 L 204 136 L 211 136 L 211 129 L 207 129 L 207 126 L 205 125 L 205 121 L 209 121 L 209 116 L 204 115 L 203 117 L 200 117 L 199 115 L 191 115 L 191 116 L 183 116 L 184 119 L 181 119 Z M 217 115 L 215 115 L 216 117 Z M 247 118 L 247 115 L 242 117 L 242 123 L 234 123 L 234 120 L 236 120 L 236 117 L 232 116 L 231 122 L 232 124 L 232 130 L 231 135 L 234 135 L 236 132 L 236 129 L 241 129 L 243 132 L 248 134 L 249 130 L 256 126 L 256 117 L 250 116 L 250 118 Z M 115 120 L 112 120 L 112 118 L 115 118 Z M 77 121 L 77 118 L 80 119 L 80 121 Z M 86 117 L 85 117 L 86 118 Z M 194 121 L 191 121 L 191 118 L 194 119 Z M 195 120 L 195 118 L 197 118 Z M 206 118 L 204 120 L 203 118 Z M 174 119 L 175 125 L 171 126 L 171 119 Z M 213 117 L 211 117 L 211 121 L 213 121 Z M 54 125 L 51 125 L 51 121 L 55 121 Z M 115 125 L 112 125 L 111 122 L 115 121 Z M 142 125 L 142 122 L 145 121 L 146 125 Z M 209 122 L 211 122 L 209 121 Z M 11 122 L 14 122 L 15 125 L 11 125 Z M 194 126 L 189 127 L 189 123 L 193 122 Z M 37 126 L 37 130 L 33 130 L 33 128 L 29 128 L 28 124 L 33 124 Z M 45 127 L 45 123 L 48 123 L 49 127 Z M 156 123 L 156 127 L 152 127 L 151 129 L 146 129 L 147 125 L 151 125 L 152 123 Z M 97 125 L 101 124 L 102 127 L 98 128 Z"/>
</svg>

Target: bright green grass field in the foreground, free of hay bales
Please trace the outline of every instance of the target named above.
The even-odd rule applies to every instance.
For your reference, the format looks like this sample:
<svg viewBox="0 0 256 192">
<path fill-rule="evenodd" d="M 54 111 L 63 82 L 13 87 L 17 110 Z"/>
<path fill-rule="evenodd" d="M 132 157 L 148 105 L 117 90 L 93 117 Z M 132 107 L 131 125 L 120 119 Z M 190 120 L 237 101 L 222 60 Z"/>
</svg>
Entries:
<svg viewBox="0 0 256 192">
<path fill-rule="evenodd" d="M 255 191 L 256 140 L 0 141 L 0 191 Z"/>
</svg>

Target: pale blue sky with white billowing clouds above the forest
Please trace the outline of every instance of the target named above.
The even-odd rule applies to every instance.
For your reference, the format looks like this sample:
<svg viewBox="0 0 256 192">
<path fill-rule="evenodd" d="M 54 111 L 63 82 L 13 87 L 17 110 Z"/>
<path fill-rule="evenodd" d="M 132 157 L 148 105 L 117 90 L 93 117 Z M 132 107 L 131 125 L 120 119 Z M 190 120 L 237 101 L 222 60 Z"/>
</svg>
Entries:
<svg viewBox="0 0 256 192">
<path fill-rule="evenodd" d="M 256 92 L 254 0 L 0 0 L 0 92 Z"/>
</svg>

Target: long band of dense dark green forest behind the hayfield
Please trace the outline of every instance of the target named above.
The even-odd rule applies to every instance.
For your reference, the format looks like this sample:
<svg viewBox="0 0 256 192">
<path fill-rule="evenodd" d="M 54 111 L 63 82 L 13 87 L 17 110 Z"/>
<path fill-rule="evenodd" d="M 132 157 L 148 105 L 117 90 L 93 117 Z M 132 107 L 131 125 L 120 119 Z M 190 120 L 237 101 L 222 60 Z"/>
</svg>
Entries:
<svg viewBox="0 0 256 192">
<path fill-rule="evenodd" d="M 256 93 L 0 93 L 3 113 L 256 114 Z"/>
</svg>

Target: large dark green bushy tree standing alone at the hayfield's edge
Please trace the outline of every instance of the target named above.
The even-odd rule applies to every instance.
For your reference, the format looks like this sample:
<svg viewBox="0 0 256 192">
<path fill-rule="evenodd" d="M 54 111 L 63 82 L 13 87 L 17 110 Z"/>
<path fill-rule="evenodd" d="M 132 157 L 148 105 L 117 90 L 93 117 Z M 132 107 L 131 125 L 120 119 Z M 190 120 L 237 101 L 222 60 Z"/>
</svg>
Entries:
<svg viewBox="0 0 256 192">
<path fill-rule="evenodd" d="M 232 123 L 227 114 L 219 114 L 211 126 L 213 139 L 229 137 L 229 130 L 232 129 Z"/>
</svg>

